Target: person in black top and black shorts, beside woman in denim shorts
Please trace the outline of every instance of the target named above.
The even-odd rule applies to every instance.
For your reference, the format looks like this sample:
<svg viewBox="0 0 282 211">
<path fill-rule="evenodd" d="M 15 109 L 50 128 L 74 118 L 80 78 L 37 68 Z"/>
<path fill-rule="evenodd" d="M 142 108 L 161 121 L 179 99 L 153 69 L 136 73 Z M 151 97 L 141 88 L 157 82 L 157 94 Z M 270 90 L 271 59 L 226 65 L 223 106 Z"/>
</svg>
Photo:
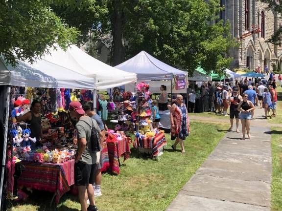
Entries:
<svg viewBox="0 0 282 211">
<path fill-rule="evenodd" d="M 234 122 L 234 117 L 236 119 L 236 132 L 239 132 L 239 115 L 240 112 L 237 110 L 238 105 L 240 101 L 242 101 L 241 95 L 239 95 L 239 90 L 238 88 L 233 89 L 232 96 L 230 98 L 230 127 L 229 130 L 231 131 L 233 129 L 233 122 Z"/>
</svg>

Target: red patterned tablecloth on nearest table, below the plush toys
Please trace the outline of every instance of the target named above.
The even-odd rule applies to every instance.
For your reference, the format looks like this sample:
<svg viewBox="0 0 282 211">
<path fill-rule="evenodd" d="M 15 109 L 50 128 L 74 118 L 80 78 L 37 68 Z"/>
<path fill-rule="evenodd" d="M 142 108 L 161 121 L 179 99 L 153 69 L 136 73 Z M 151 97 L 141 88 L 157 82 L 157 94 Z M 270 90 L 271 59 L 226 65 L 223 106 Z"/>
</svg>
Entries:
<svg viewBox="0 0 282 211">
<path fill-rule="evenodd" d="M 74 184 L 74 160 L 62 164 L 22 161 L 25 169 L 18 179 L 18 187 L 55 192 L 55 202 Z"/>
</svg>

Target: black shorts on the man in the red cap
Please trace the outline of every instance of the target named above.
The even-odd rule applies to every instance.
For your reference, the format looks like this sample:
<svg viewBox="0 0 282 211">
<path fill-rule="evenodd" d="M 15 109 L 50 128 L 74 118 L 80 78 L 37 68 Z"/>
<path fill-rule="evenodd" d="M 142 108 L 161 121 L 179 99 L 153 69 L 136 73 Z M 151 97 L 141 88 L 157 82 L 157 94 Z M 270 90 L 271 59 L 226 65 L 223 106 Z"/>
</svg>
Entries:
<svg viewBox="0 0 282 211">
<path fill-rule="evenodd" d="M 74 164 L 74 180 L 76 186 L 88 186 L 95 182 L 96 164 L 78 162 Z"/>
</svg>

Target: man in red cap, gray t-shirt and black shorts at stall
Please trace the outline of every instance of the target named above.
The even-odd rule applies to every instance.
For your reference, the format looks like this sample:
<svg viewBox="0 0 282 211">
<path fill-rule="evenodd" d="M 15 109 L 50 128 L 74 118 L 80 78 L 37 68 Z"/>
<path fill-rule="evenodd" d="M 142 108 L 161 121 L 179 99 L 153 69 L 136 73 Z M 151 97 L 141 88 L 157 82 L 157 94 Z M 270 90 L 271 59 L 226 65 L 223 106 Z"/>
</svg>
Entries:
<svg viewBox="0 0 282 211">
<path fill-rule="evenodd" d="M 77 152 L 75 155 L 75 184 L 78 187 L 78 197 L 82 211 L 98 211 L 95 206 L 94 189 L 92 184 L 95 182 L 96 163 L 99 159 L 99 152 L 93 151 L 92 128 L 98 132 L 100 141 L 103 134 L 97 125 L 97 122 L 87 116 L 79 102 L 70 103 L 71 118 L 75 118 L 77 123 Z M 87 194 L 86 194 L 87 191 Z M 87 198 L 90 205 L 87 208 Z"/>
</svg>

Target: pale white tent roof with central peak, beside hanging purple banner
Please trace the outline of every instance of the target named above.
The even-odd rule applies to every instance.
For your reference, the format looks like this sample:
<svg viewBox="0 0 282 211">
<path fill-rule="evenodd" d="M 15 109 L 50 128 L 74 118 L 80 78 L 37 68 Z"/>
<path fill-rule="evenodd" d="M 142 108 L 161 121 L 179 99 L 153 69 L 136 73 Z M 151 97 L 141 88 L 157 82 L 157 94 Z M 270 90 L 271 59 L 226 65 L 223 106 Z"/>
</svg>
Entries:
<svg viewBox="0 0 282 211">
<path fill-rule="evenodd" d="M 172 80 L 173 75 L 187 75 L 187 72 L 169 66 L 141 51 L 135 57 L 115 66 L 126 72 L 136 73 L 138 80 Z"/>
</svg>

